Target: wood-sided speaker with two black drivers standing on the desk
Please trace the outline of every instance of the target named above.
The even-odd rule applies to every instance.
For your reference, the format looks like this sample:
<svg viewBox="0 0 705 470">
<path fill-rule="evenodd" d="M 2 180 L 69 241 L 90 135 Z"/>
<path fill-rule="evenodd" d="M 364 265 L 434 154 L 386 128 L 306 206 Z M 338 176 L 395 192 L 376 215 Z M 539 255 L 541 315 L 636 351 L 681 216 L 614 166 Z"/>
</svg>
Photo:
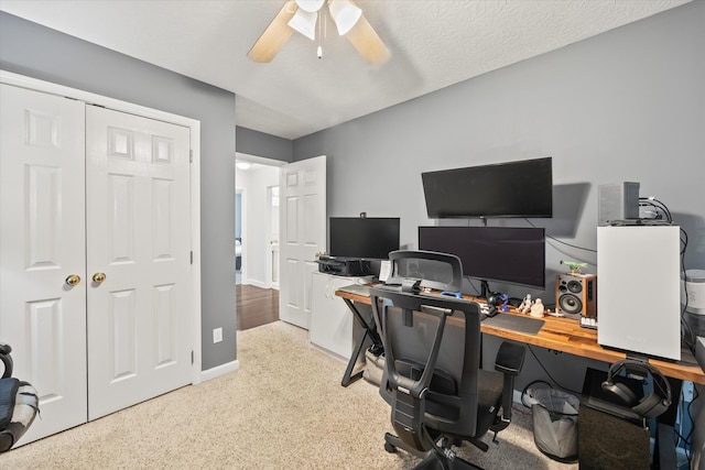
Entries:
<svg viewBox="0 0 705 470">
<path fill-rule="evenodd" d="M 566 315 L 581 315 L 581 325 L 597 328 L 597 276 L 556 274 L 555 307 Z"/>
</svg>

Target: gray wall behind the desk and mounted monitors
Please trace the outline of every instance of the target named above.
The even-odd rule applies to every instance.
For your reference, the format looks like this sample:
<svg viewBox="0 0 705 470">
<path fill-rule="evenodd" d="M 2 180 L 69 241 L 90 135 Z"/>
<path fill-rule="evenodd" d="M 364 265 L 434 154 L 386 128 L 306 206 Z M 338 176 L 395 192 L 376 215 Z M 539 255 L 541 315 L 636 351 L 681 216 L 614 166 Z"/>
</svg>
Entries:
<svg viewBox="0 0 705 470">
<path fill-rule="evenodd" d="M 640 182 L 641 195 L 666 204 L 687 231 L 686 266 L 705 269 L 704 24 L 705 2 L 696 0 L 295 140 L 294 160 L 327 155 L 328 216 L 399 216 L 402 243 L 414 248 L 416 227 L 434 223 L 422 172 L 551 155 L 555 217 L 532 220 L 547 234 L 594 250 L 597 185 Z M 528 226 L 489 221 L 501 223 Z M 546 303 L 555 302 L 562 259 L 596 270 L 594 252 L 549 240 L 547 288 L 534 292 Z M 605 367 L 534 351 L 573 390 L 585 365 Z M 546 376 L 529 359 L 518 386 Z"/>
</svg>

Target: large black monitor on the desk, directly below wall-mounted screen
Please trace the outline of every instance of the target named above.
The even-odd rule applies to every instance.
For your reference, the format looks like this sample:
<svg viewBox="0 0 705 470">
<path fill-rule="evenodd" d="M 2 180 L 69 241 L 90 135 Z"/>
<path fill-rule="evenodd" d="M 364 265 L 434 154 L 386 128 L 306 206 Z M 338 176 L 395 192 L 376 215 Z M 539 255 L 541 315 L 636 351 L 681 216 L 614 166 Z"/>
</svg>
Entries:
<svg viewBox="0 0 705 470">
<path fill-rule="evenodd" d="M 545 288 L 543 228 L 419 227 L 419 249 L 455 254 L 463 274 L 488 281 Z"/>
</svg>

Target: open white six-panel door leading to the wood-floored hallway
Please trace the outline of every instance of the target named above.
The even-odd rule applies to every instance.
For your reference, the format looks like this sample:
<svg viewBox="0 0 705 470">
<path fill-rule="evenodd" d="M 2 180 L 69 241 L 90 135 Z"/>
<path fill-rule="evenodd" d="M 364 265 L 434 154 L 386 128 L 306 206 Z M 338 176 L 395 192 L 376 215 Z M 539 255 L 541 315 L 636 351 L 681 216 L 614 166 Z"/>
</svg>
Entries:
<svg viewBox="0 0 705 470">
<path fill-rule="evenodd" d="M 316 253 L 326 249 L 325 155 L 280 170 L 279 317 L 308 329 L 312 273 Z"/>
</svg>

